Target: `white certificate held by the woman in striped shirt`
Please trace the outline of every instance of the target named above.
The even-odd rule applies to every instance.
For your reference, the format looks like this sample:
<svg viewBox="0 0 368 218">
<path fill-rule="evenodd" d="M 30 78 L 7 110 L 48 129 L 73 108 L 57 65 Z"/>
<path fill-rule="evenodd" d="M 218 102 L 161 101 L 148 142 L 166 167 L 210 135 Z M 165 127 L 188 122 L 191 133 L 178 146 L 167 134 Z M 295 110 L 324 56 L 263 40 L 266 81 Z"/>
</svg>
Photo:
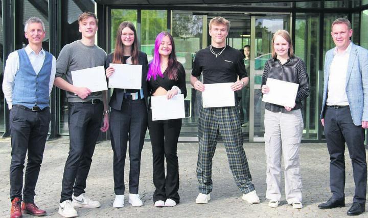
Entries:
<svg viewBox="0 0 368 218">
<path fill-rule="evenodd" d="M 269 92 L 263 94 L 262 101 L 281 106 L 294 106 L 299 84 L 267 78 L 266 86 L 268 86 Z"/>
</svg>

